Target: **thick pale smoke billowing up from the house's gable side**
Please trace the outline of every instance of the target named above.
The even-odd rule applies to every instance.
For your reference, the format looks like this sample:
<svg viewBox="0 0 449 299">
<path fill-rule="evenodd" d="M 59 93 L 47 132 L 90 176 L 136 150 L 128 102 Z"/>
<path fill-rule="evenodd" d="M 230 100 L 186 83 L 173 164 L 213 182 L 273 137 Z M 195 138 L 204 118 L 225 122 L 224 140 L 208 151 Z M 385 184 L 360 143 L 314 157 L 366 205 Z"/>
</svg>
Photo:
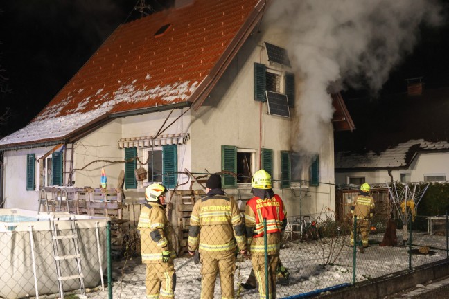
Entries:
<svg viewBox="0 0 449 299">
<path fill-rule="evenodd" d="M 419 26 L 437 26 L 441 7 L 430 0 L 274 0 L 263 26 L 288 40 L 297 78 L 297 136 L 292 148 L 319 152 L 333 116 L 331 96 L 346 87 L 379 91 L 391 69 L 412 53 Z"/>
</svg>

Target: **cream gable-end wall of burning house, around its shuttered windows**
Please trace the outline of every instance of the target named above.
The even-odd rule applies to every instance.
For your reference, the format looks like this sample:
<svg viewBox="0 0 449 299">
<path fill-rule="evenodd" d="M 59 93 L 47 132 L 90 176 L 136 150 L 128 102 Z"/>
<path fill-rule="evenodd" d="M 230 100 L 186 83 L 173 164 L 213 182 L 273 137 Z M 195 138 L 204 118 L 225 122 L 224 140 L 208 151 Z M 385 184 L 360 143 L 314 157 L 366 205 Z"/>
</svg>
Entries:
<svg viewBox="0 0 449 299">
<path fill-rule="evenodd" d="M 260 37 L 260 36 L 259 36 Z M 263 40 L 263 39 L 262 39 Z M 280 189 L 281 151 L 291 151 L 294 134 L 292 118 L 267 114 L 267 104 L 254 100 L 254 62 L 267 64 L 265 50 L 258 46 L 260 39 L 250 38 L 224 72 L 202 107 L 192 113 L 191 147 L 193 172 L 220 172 L 221 146 L 234 145 L 256 151 L 258 170 L 260 148 L 273 150 L 274 190 L 281 194 L 288 208 L 288 215 L 312 214 L 333 210 L 335 206 L 333 128 L 328 125 L 328 138 L 319 152 L 319 187 L 309 187 L 299 197 L 290 188 Z M 277 44 L 281 46 L 281 44 Z M 262 122 L 260 124 L 259 119 Z M 261 126 L 261 127 L 260 127 Z M 261 136 L 261 139 L 259 138 Z M 308 180 L 308 165 L 303 179 Z M 249 193 L 250 185 L 240 186 Z M 236 194 L 236 190 L 227 190 Z M 297 194 L 299 194 L 297 192 Z"/>
</svg>

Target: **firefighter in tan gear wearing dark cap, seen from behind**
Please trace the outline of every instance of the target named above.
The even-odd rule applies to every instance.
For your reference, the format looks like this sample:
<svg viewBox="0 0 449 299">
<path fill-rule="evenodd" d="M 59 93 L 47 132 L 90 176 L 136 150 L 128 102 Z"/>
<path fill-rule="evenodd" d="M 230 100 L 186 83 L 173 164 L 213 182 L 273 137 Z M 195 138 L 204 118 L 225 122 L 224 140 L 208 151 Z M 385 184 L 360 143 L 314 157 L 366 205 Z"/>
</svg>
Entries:
<svg viewBox="0 0 449 299">
<path fill-rule="evenodd" d="M 221 177 L 211 174 L 206 196 L 193 206 L 188 232 L 188 253 L 197 248 L 201 261 L 201 299 L 213 299 L 217 272 L 220 272 L 221 298 L 234 298 L 236 249 L 246 254 L 245 224 L 234 199 L 224 195 Z"/>
</svg>

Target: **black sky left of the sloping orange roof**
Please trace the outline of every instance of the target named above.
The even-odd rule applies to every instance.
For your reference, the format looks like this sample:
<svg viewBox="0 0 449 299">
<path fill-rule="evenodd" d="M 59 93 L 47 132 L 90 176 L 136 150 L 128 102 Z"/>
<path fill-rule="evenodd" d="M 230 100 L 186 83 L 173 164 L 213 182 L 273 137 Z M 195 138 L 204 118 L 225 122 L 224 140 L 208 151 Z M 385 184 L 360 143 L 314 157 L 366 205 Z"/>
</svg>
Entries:
<svg viewBox="0 0 449 299">
<path fill-rule="evenodd" d="M 141 14 L 138 0 L 1 1 L 0 69 L 12 93 L 0 93 L 0 114 L 10 108 L 0 136 L 17 131 L 45 107 L 100 44 Z M 147 0 L 153 10 L 173 1 Z M 146 10 L 150 13 L 150 10 Z"/>
</svg>

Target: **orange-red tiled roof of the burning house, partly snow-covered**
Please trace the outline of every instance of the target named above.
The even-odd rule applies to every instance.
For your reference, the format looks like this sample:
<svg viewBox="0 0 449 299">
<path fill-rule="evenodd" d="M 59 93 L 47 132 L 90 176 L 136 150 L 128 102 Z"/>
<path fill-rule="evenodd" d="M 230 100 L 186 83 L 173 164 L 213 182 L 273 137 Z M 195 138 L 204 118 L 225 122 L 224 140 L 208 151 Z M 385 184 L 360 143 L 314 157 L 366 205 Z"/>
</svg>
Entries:
<svg viewBox="0 0 449 299">
<path fill-rule="evenodd" d="M 118 26 L 26 127 L 0 140 L 0 149 L 73 138 L 133 111 L 199 107 L 264 5 L 195 0 Z"/>
</svg>

